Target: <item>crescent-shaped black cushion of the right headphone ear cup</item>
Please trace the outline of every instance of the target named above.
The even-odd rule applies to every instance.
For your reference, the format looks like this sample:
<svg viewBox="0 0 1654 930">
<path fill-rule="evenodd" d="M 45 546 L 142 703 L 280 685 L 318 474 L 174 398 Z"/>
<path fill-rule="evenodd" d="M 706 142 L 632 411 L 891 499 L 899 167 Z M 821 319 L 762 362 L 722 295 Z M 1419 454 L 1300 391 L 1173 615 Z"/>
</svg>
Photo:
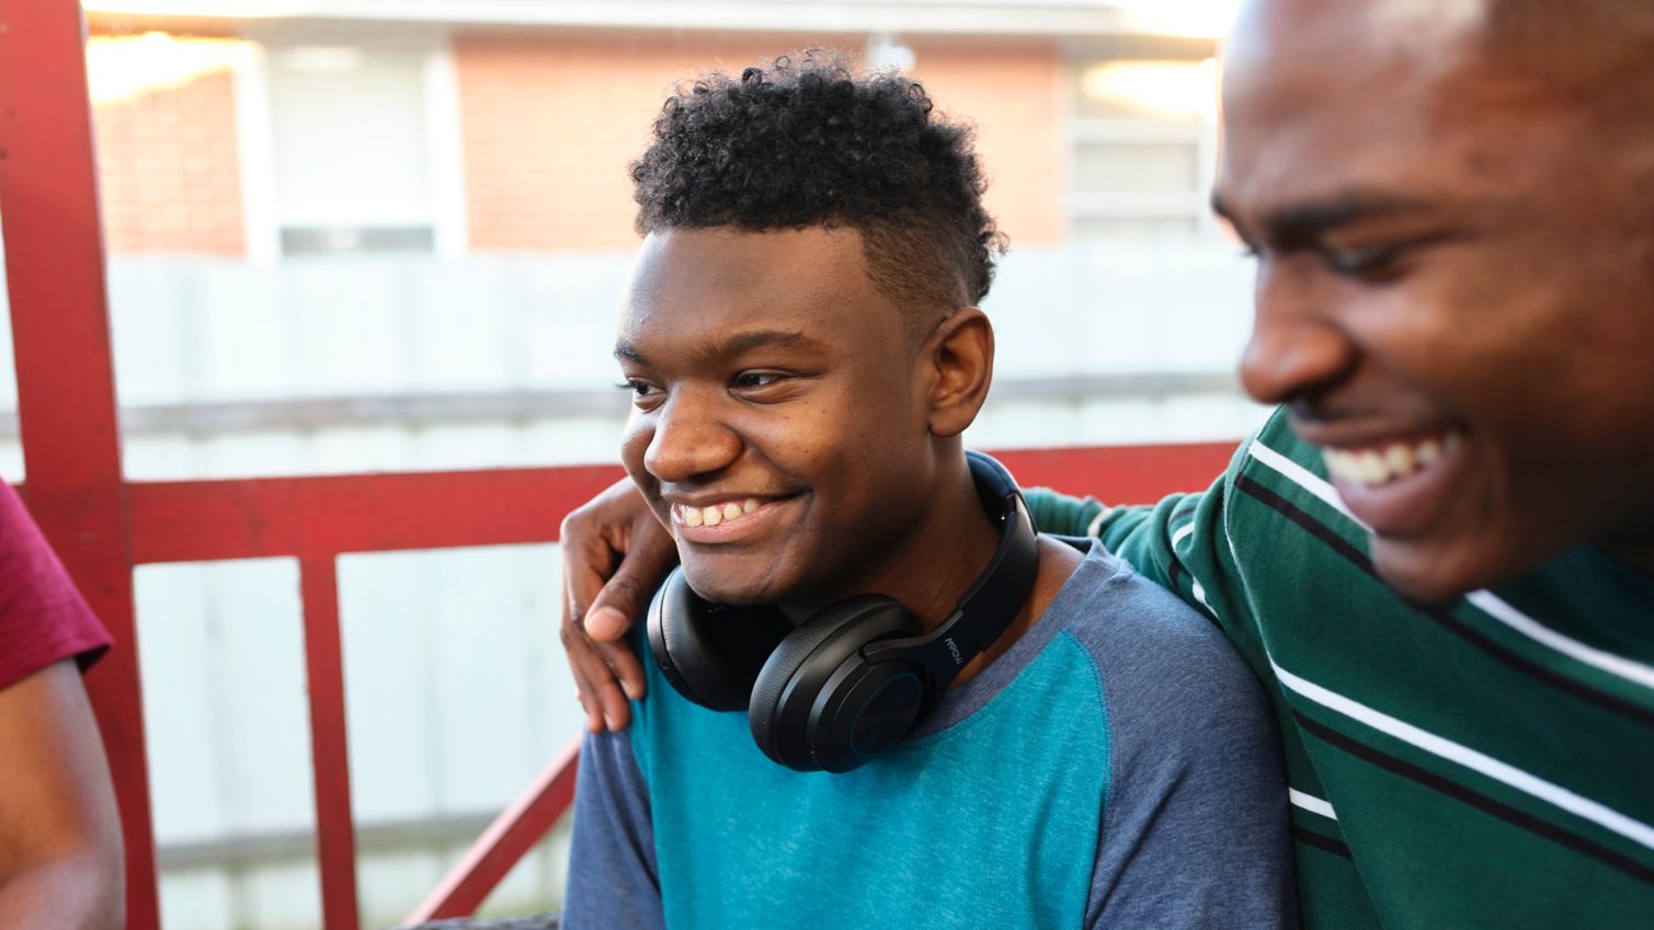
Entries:
<svg viewBox="0 0 1654 930">
<path fill-rule="evenodd" d="M 845 598 L 787 634 L 758 672 L 748 722 L 753 740 L 771 760 L 797 771 L 849 771 L 860 762 L 824 765 L 812 733 L 810 710 L 817 695 L 847 661 L 868 643 L 896 636 L 921 636 L 923 624 L 900 601 L 882 595 Z"/>
</svg>

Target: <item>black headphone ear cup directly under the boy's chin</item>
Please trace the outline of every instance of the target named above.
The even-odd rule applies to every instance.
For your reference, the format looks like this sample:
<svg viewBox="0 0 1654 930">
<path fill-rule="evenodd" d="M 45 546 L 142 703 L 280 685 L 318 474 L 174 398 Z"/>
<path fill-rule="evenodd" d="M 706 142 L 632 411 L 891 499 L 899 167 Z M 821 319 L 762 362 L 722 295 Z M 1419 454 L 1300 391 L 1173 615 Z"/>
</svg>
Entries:
<svg viewBox="0 0 1654 930">
<path fill-rule="evenodd" d="M 771 608 L 729 608 L 696 595 L 673 568 L 648 606 L 648 651 L 683 697 L 711 710 L 746 710 L 758 669 L 791 631 Z"/>
</svg>

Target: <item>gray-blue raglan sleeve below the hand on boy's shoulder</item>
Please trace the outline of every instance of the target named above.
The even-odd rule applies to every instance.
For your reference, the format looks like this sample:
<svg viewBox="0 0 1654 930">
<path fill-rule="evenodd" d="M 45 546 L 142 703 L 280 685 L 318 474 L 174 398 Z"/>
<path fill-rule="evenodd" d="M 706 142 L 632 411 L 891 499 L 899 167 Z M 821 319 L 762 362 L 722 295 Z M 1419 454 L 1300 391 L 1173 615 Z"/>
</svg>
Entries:
<svg viewBox="0 0 1654 930">
<path fill-rule="evenodd" d="M 564 930 L 665 930 L 648 786 L 632 732 L 587 733 L 574 790 Z"/>
</svg>

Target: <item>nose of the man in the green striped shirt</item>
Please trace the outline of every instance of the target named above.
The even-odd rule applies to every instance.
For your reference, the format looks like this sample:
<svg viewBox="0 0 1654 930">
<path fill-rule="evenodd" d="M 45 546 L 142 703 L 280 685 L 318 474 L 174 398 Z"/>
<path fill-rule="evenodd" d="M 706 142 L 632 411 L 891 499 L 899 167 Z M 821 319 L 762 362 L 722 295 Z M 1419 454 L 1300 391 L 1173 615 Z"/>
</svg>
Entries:
<svg viewBox="0 0 1654 930">
<path fill-rule="evenodd" d="M 1331 287 L 1280 263 L 1259 266 L 1252 337 L 1240 355 L 1240 383 L 1260 403 L 1325 393 L 1355 372 L 1360 350 L 1330 311 Z"/>
</svg>

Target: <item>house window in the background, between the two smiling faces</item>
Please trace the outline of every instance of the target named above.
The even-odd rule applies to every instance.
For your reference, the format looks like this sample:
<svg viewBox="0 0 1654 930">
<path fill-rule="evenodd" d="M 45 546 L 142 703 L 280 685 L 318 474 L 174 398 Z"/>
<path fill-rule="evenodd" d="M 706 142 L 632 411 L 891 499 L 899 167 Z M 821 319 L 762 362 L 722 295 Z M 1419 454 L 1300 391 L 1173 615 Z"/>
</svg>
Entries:
<svg viewBox="0 0 1654 930">
<path fill-rule="evenodd" d="M 1206 231 L 1217 155 L 1216 63 L 1083 61 L 1072 88 L 1075 236 Z"/>
</svg>

